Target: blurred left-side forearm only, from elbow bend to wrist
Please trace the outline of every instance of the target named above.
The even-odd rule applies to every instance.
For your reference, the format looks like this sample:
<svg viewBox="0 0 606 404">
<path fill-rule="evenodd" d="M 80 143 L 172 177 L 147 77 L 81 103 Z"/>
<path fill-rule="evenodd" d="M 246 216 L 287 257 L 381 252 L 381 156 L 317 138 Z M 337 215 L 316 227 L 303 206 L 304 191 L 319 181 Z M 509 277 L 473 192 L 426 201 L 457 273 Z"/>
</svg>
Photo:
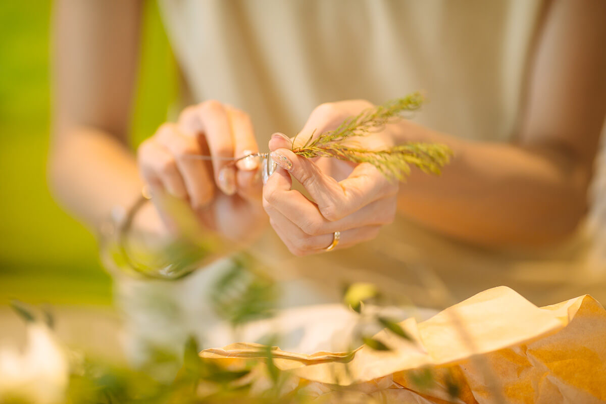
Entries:
<svg viewBox="0 0 606 404">
<path fill-rule="evenodd" d="M 56 136 L 49 180 L 56 199 L 96 228 L 115 207 L 127 208 L 141 192 L 135 158 L 113 136 L 92 127 L 74 127 Z"/>
</svg>

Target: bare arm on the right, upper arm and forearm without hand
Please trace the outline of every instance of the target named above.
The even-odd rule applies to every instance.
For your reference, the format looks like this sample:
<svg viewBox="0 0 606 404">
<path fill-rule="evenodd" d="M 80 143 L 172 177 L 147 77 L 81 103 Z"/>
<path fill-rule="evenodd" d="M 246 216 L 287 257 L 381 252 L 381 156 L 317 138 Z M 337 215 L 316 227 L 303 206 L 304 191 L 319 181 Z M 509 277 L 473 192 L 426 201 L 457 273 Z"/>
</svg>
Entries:
<svg viewBox="0 0 606 404">
<path fill-rule="evenodd" d="M 471 142 L 410 121 L 396 143 L 453 148 L 440 177 L 413 173 L 399 210 L 458 239 L 519 247 L 557 242 L 588 208 L 606 115 L 606 2 L 551 2 L 531 61 L 521 126 L 510 144 Z"/>
</svg>

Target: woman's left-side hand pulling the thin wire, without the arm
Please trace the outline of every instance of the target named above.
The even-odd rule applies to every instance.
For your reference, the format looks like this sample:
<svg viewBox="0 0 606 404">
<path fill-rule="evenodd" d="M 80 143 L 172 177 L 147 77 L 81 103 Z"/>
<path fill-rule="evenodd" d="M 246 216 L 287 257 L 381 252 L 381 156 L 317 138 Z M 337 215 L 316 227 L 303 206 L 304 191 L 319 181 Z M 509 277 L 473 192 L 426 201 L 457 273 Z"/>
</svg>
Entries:
<svg viewBox="0 0 606 404">
<path fill-rule="evenodd" d="M 267 222 L 258 161 L 233 164 L 196 156 L 240 157 L 257 151 L 246 113 L 206 101 L 185 108 L 176 124 L 161 125 L 139 147 L 138 163 L 165 222 L 170 223 L 171 212 L 158 201 L 168 195 L 187 202 L 205 228 L 225 239 L 247 242 Z"/>
</svg>

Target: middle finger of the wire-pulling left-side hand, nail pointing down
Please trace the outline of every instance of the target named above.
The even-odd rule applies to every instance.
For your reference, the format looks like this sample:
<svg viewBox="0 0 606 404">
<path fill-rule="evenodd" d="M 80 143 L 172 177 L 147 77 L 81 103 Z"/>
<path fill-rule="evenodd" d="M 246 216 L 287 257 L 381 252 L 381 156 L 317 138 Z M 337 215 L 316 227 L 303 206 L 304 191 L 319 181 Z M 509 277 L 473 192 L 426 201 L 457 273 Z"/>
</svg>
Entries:
<svg viewBox="0 0 606 404">
<path fill-rule="evenodd" d="M 234 141 L 230 119 L 224 105 L 218 101 L 205 101 L 195 107 L 186 108 L 179 118 L 182 125 L 199 141 L 205 140 L 213 159 L 213 175 L 219 189 L 227 195 L 236 192 L 235 167 L 225 157 L 234 156 Z M 203 139 L 202 139 L 203 137 Z"/>
</svg>

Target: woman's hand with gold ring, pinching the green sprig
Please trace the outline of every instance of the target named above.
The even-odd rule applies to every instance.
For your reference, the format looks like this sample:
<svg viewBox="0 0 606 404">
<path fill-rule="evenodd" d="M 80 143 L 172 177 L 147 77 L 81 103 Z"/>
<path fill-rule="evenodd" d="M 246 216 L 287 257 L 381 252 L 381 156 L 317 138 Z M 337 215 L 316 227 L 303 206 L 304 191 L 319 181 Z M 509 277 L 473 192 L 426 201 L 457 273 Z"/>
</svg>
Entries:
<svg viewBox="0 0 606 404">
<path fill-rule="evenodd" d="M 345 118 L 368 107 L 372 105 L 366 101 L 322 104 L 311 113 L 297 140 L 304 142 L 314 130 L 321 133 L 335 129 Z M 365 148 L 389 147 L 393 145 L 389 131 L 388 125 L 356 141 Z M 393 222 L 398 183 L 387 180 L 373 165 L 327 158 L 311 161 L 293 153 L 291 140 L 282 134 L 274 134 L 269 146 L 279 168 L 263 188 L 263 207 L 291 253 L 322 253 L 333 241 L 335 231 L 341 231 L 336 248 L 351 247 L 375 238 L 382 225 Z M 313 201 L 291 190 L 291 175 Z"/>
</svg>

